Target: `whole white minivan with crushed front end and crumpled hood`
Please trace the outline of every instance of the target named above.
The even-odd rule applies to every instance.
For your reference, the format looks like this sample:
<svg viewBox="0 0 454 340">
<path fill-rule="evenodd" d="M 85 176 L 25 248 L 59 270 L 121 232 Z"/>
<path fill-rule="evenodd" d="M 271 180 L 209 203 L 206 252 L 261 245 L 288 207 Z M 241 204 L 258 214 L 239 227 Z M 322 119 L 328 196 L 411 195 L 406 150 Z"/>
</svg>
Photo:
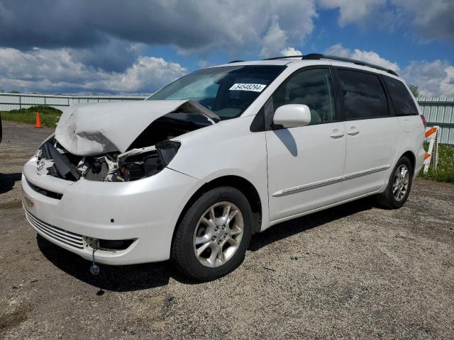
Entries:
<svg viewBox="0 0 454 340">
<path fill-rule="evenodd" d="M 73 105 L 23 168 L 45 239 L 84 259 L 172 259 L 212 280 L 252 234 L 375 195 L 400 208 L 425 120 L 389 69 L 312 54 L 193 72 L 145 101 Z"/>
</svg>

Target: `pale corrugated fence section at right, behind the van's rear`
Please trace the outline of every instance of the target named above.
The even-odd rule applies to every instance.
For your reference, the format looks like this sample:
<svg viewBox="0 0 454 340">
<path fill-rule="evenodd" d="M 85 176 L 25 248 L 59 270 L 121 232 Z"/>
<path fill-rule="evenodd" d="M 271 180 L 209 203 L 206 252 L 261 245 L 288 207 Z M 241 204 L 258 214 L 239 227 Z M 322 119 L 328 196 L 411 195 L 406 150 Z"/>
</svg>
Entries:
<svg viewBox="0 0 454 340">
<path fill-rule="evenodd" d="M 454 98 L 418 98 L 427 125 L 441 128 L 440 143 L 454 145 Z"/>
</svg>

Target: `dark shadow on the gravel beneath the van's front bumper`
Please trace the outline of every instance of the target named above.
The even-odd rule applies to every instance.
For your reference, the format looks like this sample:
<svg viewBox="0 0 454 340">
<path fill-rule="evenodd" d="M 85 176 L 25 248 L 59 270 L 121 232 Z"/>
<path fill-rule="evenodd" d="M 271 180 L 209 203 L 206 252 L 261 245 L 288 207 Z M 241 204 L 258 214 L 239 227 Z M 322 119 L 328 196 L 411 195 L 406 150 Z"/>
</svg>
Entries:
<svg viewBox="0 0 454 340">
<path fill-rule="evenodd" d="M 157 288 L 169 283 L 170 278 L 186 283 L 196 282 L 189 280 L 177 272 L 170 261 L 157 263 L 135 264 L 131 266 L 108 266 L 98 264 L 101 271 L 97 276 L 90 273 L 91 261 L 60 248 L 41 237 L 36 237 L 38 248 L 54 266 L 70 274 L 74 278 L 93 285 L 101 290 L 115 292 L 129 292 Z"/>
</svg>

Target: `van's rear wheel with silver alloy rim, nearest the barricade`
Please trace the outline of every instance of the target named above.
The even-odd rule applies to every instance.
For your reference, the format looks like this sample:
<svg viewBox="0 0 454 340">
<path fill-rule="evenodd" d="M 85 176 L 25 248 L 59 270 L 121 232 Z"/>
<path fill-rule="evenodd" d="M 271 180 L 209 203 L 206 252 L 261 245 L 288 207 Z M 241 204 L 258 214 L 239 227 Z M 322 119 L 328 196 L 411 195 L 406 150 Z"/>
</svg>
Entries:
<svg viewBox="0 0 454 340">
<path fill-rule="evenodd" d="M 377 201 L 387 209 L 399 209 L 409 197 L 413 181 L 413 166 L 407 157 L 401 157 L 389 175 L 386 188 L 377 195 Z"/>
</svg>

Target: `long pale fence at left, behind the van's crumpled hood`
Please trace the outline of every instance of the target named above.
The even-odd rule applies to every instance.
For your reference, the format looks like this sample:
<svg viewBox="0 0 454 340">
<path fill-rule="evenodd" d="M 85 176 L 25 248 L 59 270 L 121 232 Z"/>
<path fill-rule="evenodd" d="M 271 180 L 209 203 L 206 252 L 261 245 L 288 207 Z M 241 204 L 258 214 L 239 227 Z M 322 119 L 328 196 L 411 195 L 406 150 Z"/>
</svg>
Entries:
<svg viewBox="0 0 454 340">
<path fill-rule="evenodd" d="M 46 105 L 65 108 L 75 103 L 101 103 L 103 101 L 140 101 L 141 96 L 57 96 L 45 94 L 0 94 L 0 111 Z"/>
</svg>

